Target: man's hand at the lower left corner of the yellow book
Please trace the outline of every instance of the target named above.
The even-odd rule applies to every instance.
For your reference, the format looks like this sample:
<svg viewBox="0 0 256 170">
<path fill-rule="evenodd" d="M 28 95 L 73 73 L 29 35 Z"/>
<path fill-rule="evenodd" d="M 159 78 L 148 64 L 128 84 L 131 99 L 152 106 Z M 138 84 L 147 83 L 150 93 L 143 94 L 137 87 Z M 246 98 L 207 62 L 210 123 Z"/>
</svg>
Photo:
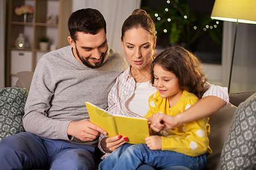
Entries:
<svg viewBox="0 0 256 170">
<path fill-rule="evenodd" d="M 104 129 L 92 124 L 88 119 L 70 122 L 67 133 L 81 141 L 94 141 L 100 133 L 107 134 Z"/>
</svg>

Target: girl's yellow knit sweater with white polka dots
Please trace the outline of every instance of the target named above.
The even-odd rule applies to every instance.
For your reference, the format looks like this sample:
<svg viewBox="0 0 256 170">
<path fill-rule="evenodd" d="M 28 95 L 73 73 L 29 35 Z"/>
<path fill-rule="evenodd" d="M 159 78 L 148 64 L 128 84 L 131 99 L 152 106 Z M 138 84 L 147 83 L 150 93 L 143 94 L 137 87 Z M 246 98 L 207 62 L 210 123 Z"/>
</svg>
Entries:
<svg viewBox="0 0 256 170">
<path fill-rule="evenodd" d="M 174 107 L 170 108 L 168 99 L 162 98 L 159 92 L 156 92 L 148 99 L 150 110 L 144 117 L 151 117 L 154 113 L 176 116 L 191 107 L 198 100 L 196 95 L 183 91 L 180 100 Z M 160 131 L 162 134 L 162 150 L 175 151 L 189 156 L 199 156 L 205 154 L 205 152 L 212 154 L 208 139 L 210 133 L 208 121 L 208 117 L 201 118 L 171 130 Z"/>
</svg>

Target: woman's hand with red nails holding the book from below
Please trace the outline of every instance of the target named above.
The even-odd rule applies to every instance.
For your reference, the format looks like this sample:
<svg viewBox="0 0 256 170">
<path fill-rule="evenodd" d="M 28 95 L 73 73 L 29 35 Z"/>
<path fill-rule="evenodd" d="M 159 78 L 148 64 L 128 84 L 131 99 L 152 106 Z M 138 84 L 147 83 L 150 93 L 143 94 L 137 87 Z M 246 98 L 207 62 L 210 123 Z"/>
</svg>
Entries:
<svg viewBox="0 0 256 170">
<path fill-rule="evenodd" d="M 127 137 L 122 137 L 121 135 L 111 138 L 107 137 L 102 139 L 101 147 L 104 149 L 105 152 L 111 153 L 127 141 Z"/>
</svg>

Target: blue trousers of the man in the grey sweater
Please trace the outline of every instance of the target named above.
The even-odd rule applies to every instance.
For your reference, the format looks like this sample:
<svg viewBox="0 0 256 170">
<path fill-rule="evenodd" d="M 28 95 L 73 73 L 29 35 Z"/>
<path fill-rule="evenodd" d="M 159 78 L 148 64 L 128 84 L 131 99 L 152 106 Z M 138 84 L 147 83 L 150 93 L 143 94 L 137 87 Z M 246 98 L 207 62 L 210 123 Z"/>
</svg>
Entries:
<svg viewBox="0 0 256 170">
<path fill-rule="evenodd" d="M 0 142 L 0 169 L 94 169 L 92 146 L 23 132 Z"/>
</svg>

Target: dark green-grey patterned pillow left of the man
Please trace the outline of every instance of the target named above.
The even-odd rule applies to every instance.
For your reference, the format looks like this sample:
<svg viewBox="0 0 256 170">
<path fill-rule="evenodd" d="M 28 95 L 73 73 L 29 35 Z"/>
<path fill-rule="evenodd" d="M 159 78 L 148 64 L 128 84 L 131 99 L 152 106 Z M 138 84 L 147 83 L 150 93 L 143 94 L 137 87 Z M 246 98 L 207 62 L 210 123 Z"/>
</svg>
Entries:
<svg viewBox="0 0 256 170">
<path fill-rule="evenodd" d="M 0 141 L 24 131 L 22 117 L 27 95 L 25 88 L 0 88 Z"/>
</svg>

